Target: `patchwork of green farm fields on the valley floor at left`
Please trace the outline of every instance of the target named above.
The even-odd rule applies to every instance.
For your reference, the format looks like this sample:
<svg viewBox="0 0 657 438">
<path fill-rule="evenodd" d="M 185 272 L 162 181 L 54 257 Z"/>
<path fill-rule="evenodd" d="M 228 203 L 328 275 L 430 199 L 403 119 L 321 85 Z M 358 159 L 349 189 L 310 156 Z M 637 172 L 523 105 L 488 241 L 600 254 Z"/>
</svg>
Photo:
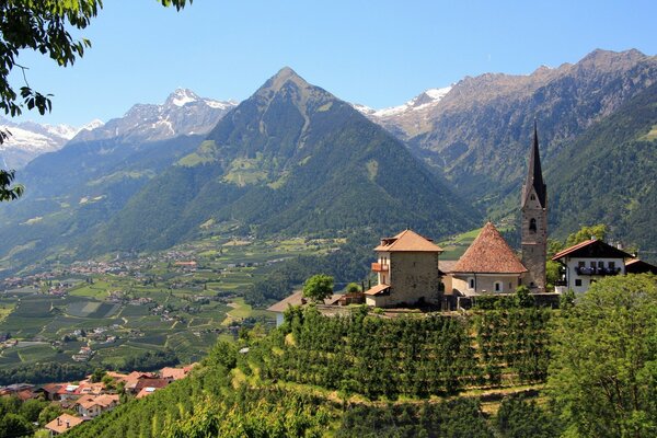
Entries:
<svg viewBox="0 0 657 438">
<path fill-rule="evenodd" d="M 274 324 L 270 312 L 242 298 L 268 266 L 339 243 L 212 235 L 175 247 L 172 252 L 182 255 L 174 261 L 169 255 L 129 258 L 116 262 L 113 273 L 71 274 L 60 266 L 67 276 L 0 290 L 0 334 L 19 339 L 19 346 L 0 351 L 0 368 L 72 362 L 83 346 L 95 351 L 93 367 L 119 367 L 128 357 L 165 348 L 182 362 L 199 360 L 217 339 L 233 339 L 235 326 Z M 68 285 L 64 297 L 48 293 L 61 284 Z M 22 346 L 23 341 L 39 344 Z"/>
</svg>

